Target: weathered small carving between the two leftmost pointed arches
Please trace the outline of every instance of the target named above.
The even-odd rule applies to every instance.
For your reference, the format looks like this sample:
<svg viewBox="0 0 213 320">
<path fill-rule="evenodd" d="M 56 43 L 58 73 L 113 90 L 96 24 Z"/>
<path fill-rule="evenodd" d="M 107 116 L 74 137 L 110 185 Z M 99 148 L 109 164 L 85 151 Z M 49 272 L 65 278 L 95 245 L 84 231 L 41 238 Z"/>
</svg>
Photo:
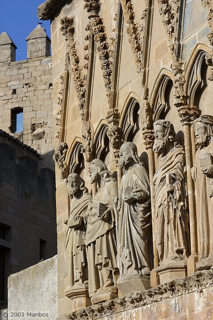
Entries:
<svg viewBox="0 0 213 320">
<path fill-rule="evenodd" d="M 81 153 L 83 153 L 85 160 L 90 162 L 92 155 L 92 130 L 90 126 L 90 121 L 85 121 L 82 128 L 82 137 L 84 140 L 84 145 L 81 148 Z"/>
</svg>

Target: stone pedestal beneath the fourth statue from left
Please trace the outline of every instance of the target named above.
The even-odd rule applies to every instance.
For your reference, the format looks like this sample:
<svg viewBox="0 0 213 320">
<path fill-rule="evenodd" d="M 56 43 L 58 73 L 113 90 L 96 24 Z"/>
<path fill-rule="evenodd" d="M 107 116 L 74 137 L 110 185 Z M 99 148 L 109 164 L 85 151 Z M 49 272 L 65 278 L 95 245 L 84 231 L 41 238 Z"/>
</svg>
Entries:
<svg viewBox="0 0 213 320">
<path fill-rule="evenodd" d="M 167 283 L 187 276 L 187 265 L 184 263 L 168 263 L 155 269 L 160 278 L 160 283 Z"/>
</svg>

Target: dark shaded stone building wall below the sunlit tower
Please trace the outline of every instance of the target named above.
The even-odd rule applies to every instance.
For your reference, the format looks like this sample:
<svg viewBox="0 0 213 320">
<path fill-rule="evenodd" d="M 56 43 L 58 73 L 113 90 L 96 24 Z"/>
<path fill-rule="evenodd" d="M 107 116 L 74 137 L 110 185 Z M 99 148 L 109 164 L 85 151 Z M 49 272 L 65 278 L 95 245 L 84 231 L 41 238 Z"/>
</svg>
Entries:
<svg viewBox="0 0 213 320">
<path fill-rule="evenodd" d="M 0 238 L 6 278 L 57 252 L 55 175 L 40 155 L 0 130 Z M 2 253 L 2 251 L 1 251 Z"/>
</svg>

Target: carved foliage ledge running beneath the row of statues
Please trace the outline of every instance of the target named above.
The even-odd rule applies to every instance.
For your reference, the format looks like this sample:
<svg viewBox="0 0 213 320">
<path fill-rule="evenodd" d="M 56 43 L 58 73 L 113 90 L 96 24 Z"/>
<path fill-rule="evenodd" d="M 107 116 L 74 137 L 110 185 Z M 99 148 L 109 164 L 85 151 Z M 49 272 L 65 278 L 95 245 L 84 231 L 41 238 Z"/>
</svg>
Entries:
<svg viewBox="0 0 213 320">
<path fill-rule="evenodd" d="M 70 320 L 99 319 L 113 314 L 142 307 L 154 302 L 185 295 L 213 286 L 213 270 L 202 270 L 183 279 L 160 284 L 146 291 L 136 291 L 124 297 L 107 300 L 91 307 L 81 308 L 67 316 Z"/>
</svg>

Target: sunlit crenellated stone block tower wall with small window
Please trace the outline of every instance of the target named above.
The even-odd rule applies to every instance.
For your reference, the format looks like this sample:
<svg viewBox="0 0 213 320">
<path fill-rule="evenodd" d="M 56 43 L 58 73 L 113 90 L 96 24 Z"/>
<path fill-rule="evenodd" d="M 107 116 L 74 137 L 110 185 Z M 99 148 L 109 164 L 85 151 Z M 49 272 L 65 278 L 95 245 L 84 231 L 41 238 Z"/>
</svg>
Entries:
<svg viewBox="0 0 213 320">
<path fill-rule="evenodd" d="M 41 168 L 54 170 L 50 39 L 38 25 L 26 40 L 28 60 L 15 61 L 15 44 L 6 32 L 0 35 L 0 129 L 36 149 Z M 20 132 L 12 123 L 18 111 L 23 111 Z"/>
</svg>

